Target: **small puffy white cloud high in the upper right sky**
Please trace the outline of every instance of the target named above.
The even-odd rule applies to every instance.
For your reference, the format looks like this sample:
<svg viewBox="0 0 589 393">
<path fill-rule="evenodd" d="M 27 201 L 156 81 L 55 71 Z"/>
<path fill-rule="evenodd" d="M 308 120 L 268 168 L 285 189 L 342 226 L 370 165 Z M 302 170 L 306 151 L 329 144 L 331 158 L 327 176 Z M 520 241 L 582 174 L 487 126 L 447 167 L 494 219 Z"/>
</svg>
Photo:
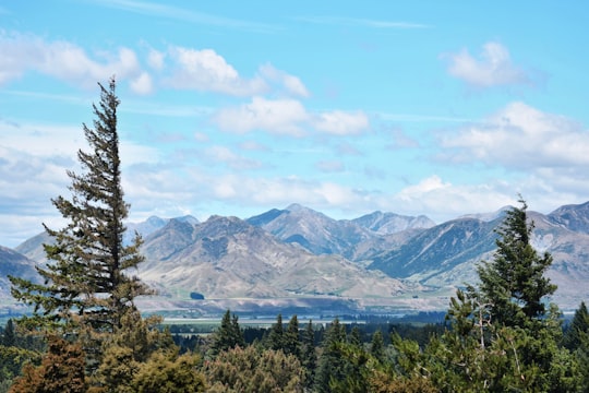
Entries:
<svg viewBox="0 0 589 393">
<path fill-rule="evenodd" d="M 509 51 L 498 43 L 486 43 L 479 59 L 467 49 L 445 55 L 449 60 L 448 72 L 476 87 L 530 84 L 531 78 L 512 62 Z"/>
</svg>

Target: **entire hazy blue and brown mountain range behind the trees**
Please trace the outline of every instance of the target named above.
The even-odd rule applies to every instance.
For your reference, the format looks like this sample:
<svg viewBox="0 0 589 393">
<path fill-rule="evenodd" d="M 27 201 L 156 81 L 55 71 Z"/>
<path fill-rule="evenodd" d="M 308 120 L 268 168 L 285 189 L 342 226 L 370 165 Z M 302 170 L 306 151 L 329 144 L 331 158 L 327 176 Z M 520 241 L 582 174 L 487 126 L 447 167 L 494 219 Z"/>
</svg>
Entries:
<svg viewBox="0 0 589 393">
<path fill-rule="evenodd" d="M 144 308 L 446 309 L 457 287 L 476 284 L 476 265 L 493 258 L 506 209 L 436 225 L 383 212 L 334 219 L 292 204 L 247 219 L 151 217 L 128 224 L 128 234 L 143 236 L 137 273 L 159 293 Z M 589 298 L 589 202 L 528 215 L 534 248 L 554 258 L 552 300 L 575 309 Z M 39 234 L 0 248 L 0 296 L 9 294 L 7 274 L 35 277 L 48 241 Z M 191 300 L 195 294 L 204 300 Z"/>
</svg>

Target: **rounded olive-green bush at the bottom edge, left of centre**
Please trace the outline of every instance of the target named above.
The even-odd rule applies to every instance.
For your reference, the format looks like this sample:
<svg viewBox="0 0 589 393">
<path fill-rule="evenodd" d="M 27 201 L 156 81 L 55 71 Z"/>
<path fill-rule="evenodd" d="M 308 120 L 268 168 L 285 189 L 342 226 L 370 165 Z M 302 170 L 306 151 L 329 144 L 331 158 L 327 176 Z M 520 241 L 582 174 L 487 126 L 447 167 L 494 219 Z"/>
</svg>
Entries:
<svg viewBox="0 0 589 393">
<path fill-rule="evenodd" d="M 218 354 L 205 364 L 208 392 L 303 392 L 304 370 L 292 355 L 250 345 Z"/>
</svg>

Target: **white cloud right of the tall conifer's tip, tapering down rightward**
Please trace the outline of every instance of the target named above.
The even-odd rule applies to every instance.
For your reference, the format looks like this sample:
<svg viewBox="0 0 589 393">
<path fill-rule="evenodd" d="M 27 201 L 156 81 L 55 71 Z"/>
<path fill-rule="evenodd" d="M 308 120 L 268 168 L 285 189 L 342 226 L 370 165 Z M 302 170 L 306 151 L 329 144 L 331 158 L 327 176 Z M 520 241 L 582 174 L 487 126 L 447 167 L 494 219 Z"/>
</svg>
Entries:
<svg viewBox="0 0 589 393">
<path fill-rule="evenodd" d="M 213 49 L 170 47 L 170 59 L 177 67 L 169 79 L 175 88 L 193 88 L 248 96 L 267 90 L 261 78 L 242 79 L 237 70 Z"/>
</svg>

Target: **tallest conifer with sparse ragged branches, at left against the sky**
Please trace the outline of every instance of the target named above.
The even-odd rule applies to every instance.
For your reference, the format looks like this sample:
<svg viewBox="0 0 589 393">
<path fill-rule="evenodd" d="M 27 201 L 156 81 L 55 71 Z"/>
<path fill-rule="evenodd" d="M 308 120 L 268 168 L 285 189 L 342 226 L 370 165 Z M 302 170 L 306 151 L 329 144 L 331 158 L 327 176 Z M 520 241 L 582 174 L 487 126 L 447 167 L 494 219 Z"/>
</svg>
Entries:
<svg viewBox="0 0 589 393">
<path fill-rule="evenodd" d="M 59 230 L 45 226 L 55 245 L 45 245 L 49 263 L 37 267 L 44 283 L 10 277 L 14 298 L 34 307 L 33 317 L 23 320 L 28 325 L 112 332 L 134 308 L 133 299 L 148 293 L 139 278 L 127 274 L 143 257 L 139 235 L 131 246 L 122 242 L 129 204 L 121 187 L 115 79 L 108 88 L 98 85 L 94 129 L 83 124 L 91 152 L 77 153 L 83 172 L 68 171 L 71 199 L 52 200 L 68 224 Z"/>
</svg>

